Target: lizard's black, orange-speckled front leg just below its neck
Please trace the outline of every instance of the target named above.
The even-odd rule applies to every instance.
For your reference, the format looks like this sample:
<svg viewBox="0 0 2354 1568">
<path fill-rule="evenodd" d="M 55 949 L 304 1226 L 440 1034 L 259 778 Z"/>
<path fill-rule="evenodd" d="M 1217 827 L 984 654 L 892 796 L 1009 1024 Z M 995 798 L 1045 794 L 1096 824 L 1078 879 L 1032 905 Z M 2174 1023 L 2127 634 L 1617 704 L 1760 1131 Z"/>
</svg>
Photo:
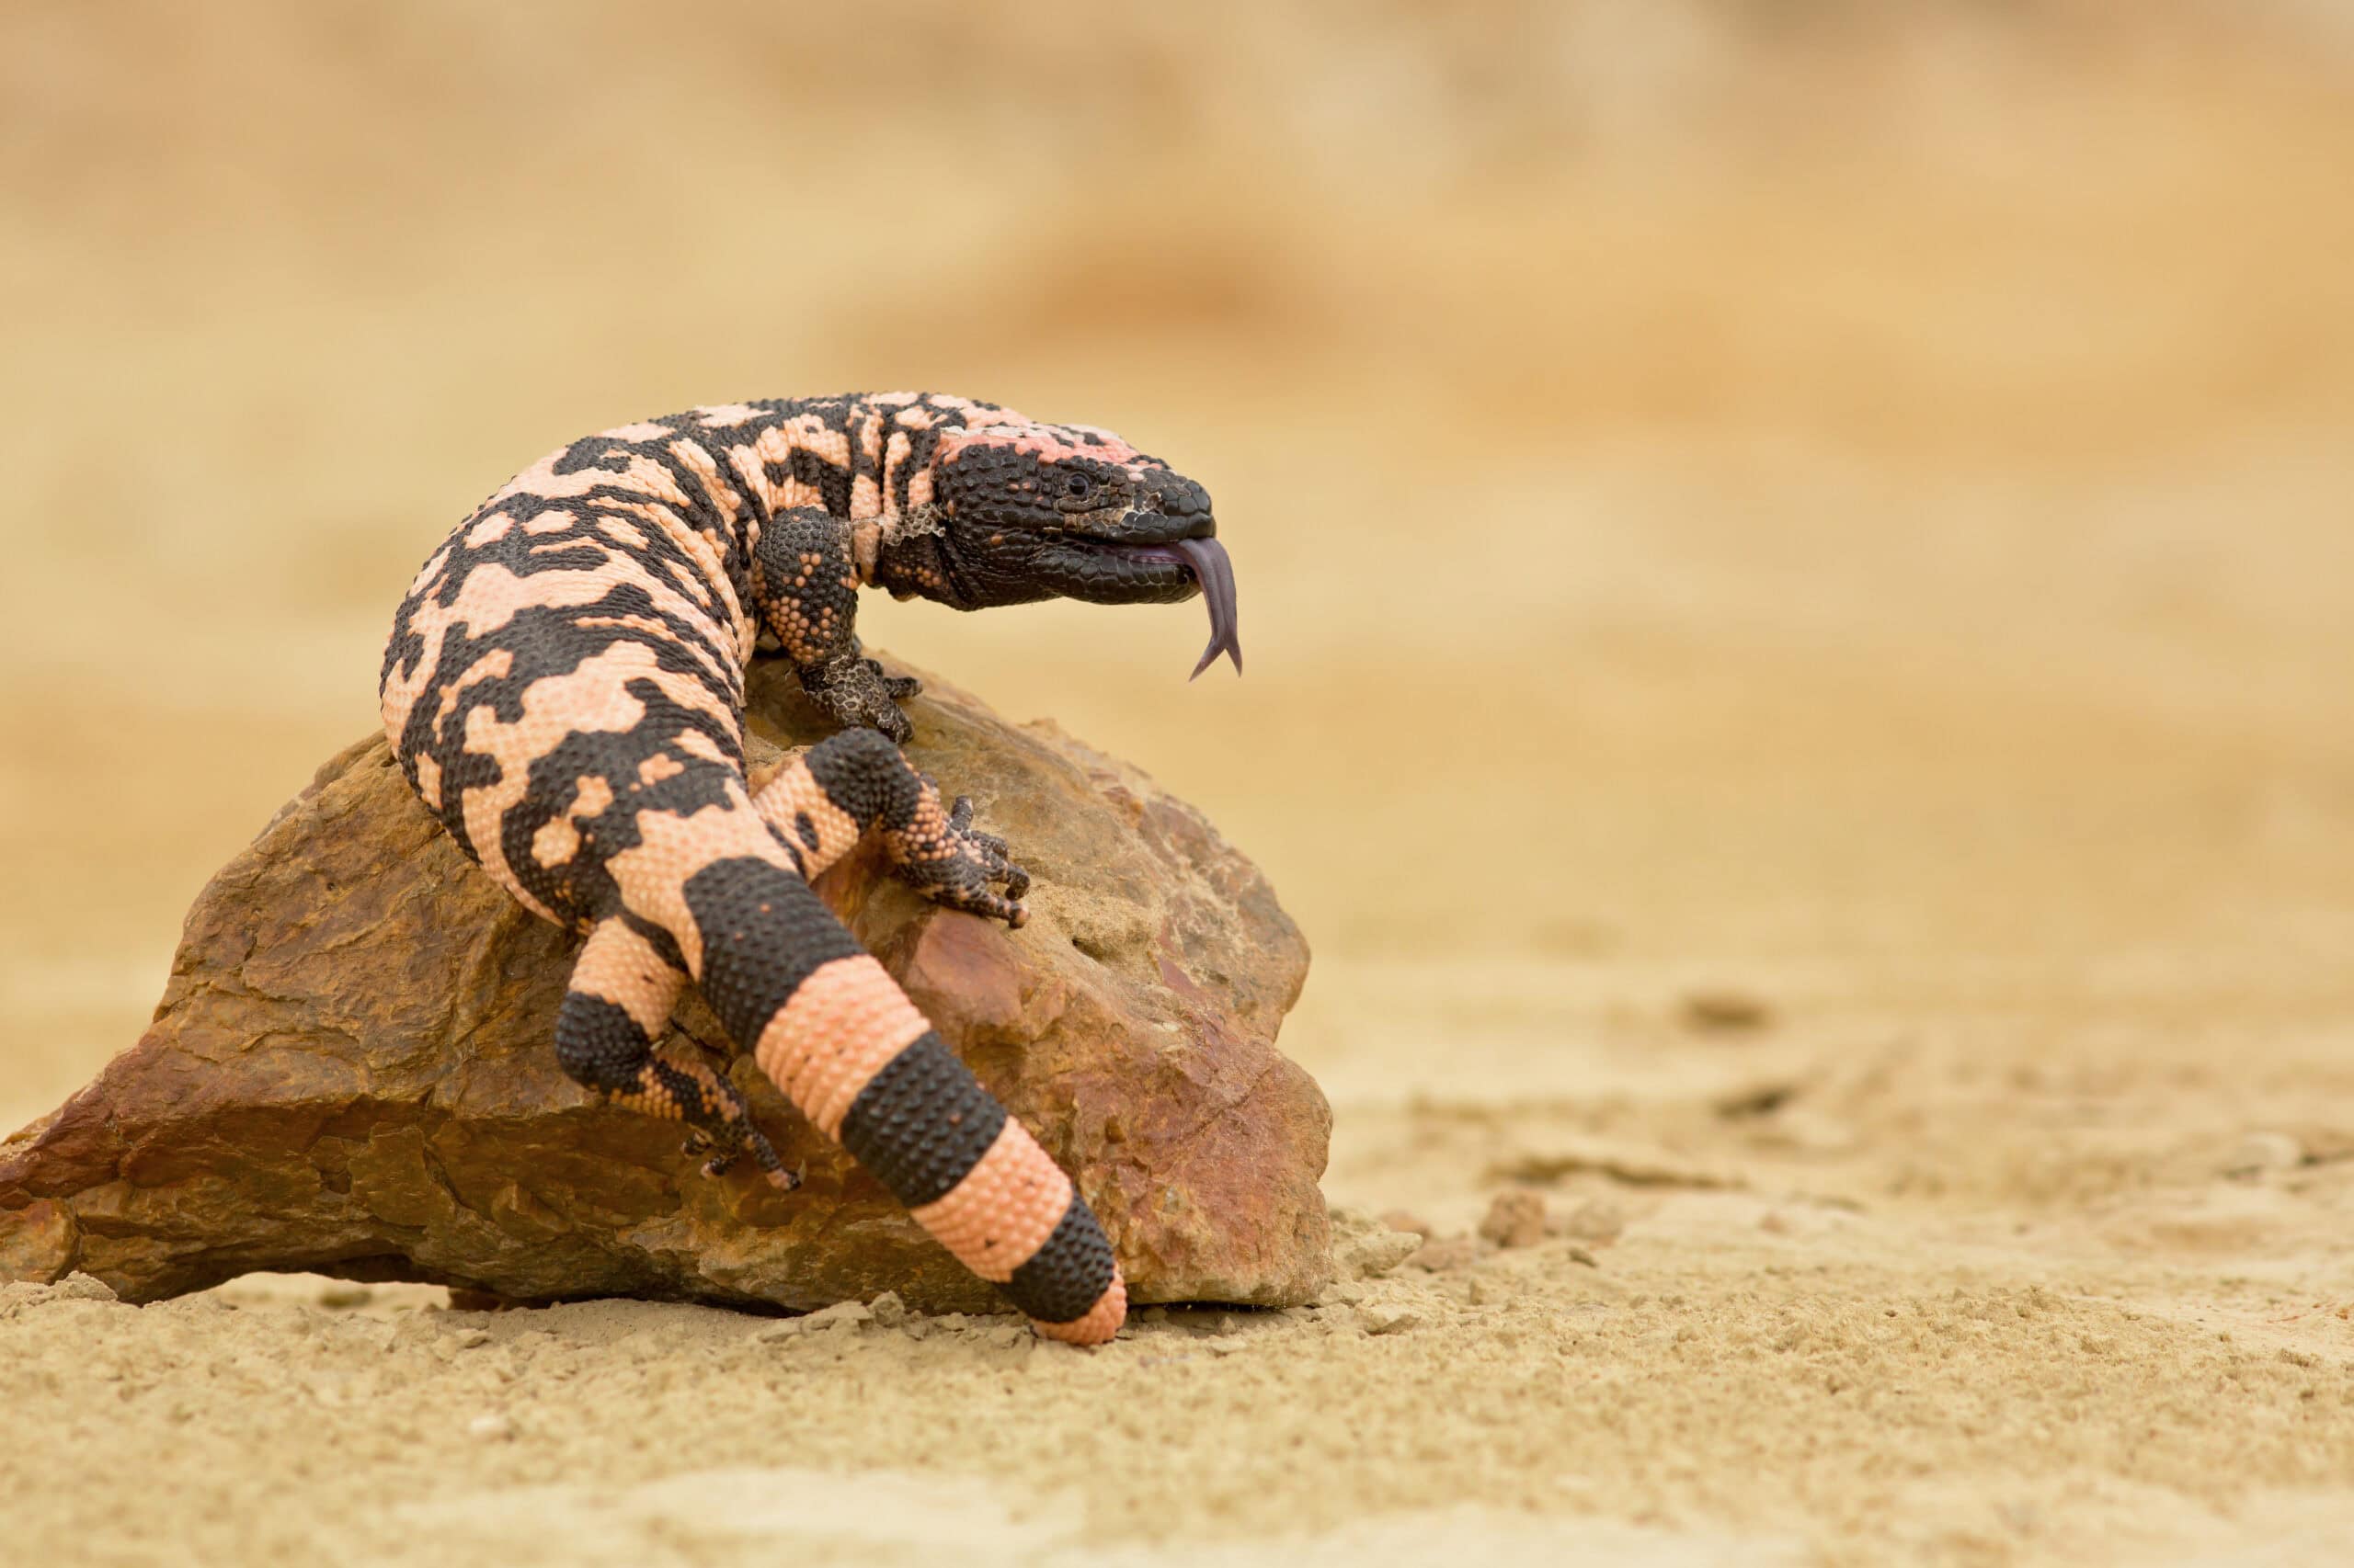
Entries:
<svg viewBox="0 0 2354 1568">
<path fill-rule="evenodd" d="M 899 704 L 923 690 L 906 676 L 885 676 L 859 652 L 852 624 L 859 610 L 859 567 L 850 523 L 817 506 L 779 511 L 760 527 L 753 549 L 753 605 L 760 626 L 793 662 L 803 690 L 829 718 L 855 730 L 880 730 L 906 742 Z"/>
</svg>

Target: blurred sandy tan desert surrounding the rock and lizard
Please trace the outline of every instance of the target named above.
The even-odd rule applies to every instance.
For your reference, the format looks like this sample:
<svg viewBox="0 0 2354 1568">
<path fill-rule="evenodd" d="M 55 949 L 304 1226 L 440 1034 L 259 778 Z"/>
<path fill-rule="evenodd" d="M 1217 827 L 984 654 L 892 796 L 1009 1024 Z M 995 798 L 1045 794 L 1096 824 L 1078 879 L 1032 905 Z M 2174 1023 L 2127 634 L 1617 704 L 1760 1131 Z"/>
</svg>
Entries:
<svg viewBox="0 0 2354 1568">
<path fill-rule="evenodd" d="M 1337 1205 L 1556 1220 L 1099 1356 L 12 1297 L 0 1561 L 2345 1561 L 2349 259 L 2335 0 L 0 7 L 0 1123 L 508 473 L 927 386 L 1250 673 L 869 640 L 1269 871 Z"/>
</svg>

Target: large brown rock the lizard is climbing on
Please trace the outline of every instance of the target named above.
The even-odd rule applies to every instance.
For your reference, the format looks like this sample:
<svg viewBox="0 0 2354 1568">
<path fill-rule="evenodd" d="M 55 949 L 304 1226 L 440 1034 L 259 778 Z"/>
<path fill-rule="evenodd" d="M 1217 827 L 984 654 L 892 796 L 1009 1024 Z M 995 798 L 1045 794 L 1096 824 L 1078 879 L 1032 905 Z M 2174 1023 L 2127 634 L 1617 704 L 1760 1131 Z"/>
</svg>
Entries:
<svg viewBox="0 0 2354 1568">
<path fill-rule="evenodd" d="M 925 685 L 909 756 L 1012 841 L 1031 923 L 937 909 L 873 848 L 819 892 L 1076 1172 L 1132 1300 L 1314 1300 L 1330 1111 L 1274 1048 L 1309 963 L 1274 890 L 1132 768 Z M 760 662 L 751 732 L 760 782 L 826 725 Z M 459 855 L 381 737 L 346 749 L 198 895 L 146 1036 L 0 1144 L 0 1278 L 82 1269 L 127 1302 L 280 1269 L 516 1302 L 1005 1309 L 699 1001 L 671 1050 L 732 1062 L 800 1191 L 749 1163 L 709 1180 L 676 1123 L 567 1081 L 574 946 Z"/>
</svg>

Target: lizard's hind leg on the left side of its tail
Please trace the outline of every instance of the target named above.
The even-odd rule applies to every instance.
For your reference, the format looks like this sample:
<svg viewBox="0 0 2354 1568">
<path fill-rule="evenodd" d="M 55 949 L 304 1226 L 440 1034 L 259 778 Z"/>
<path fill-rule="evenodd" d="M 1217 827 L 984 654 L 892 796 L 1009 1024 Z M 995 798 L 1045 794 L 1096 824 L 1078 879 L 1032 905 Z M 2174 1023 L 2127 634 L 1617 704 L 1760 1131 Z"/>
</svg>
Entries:
<svg viewBox="0 0 2354 1568">
<path fill-rule="evenodd" d="M 600 921 L 572 965 L 556 1015 L 556 1062 L 612 1104 L 683 1121 L 687 1149 L 706 1156 L 704 1175 L 720 1175 L 751 1154 L 770 1184 L 798 1187 L 800 1177 L 784 1168 L 727 1078 L 694 1055 L 654 1052 L 685 982 L 685 972 L 626 921 Z"/>
</svg>

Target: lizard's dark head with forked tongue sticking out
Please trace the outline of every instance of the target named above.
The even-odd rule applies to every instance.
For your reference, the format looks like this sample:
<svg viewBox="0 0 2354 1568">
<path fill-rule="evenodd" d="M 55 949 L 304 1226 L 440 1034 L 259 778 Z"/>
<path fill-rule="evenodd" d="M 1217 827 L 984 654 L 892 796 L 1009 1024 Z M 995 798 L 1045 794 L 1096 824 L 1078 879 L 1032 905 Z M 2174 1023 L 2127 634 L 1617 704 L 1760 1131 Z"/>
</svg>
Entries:
<svg viewBox="0 0 2354 1568">
<path fill-rule="evenodd" d="M 932 457 L 932 577 L 913 591 L 960 610 L 1078 598 L 1165 605 L 1203 593 L 1210 647 L 1243 669 L 1233 565 L 1210 492 L 1109 431 L 1003 421 L 946 431 Z M 913 539 L 911 539 L 913 542 Z M 890 560 L 883 563 L 887 579 Z"/>
</svg>

